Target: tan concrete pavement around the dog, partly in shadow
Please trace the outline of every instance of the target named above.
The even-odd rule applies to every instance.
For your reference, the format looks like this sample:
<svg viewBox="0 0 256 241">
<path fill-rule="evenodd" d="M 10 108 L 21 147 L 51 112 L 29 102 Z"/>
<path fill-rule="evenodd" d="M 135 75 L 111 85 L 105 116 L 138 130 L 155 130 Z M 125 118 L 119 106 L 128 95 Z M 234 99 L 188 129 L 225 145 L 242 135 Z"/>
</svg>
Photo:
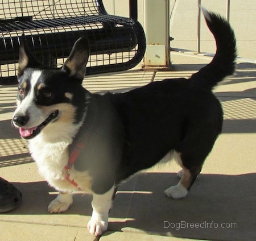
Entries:
<svg viewBox="0 0 256 241">
<path fill-rule="evenodd" d="M 210 57 L 172 52 L 172 71 L 154 80 L 188 77 Z M 171 200 L 163 192 L 179 180 L 178 165 L 162 163 L 122 184 L 100 240 L 256 239 L 256 65 L 240 62 L 214 93 L 224 107 L 224 128 L 191 192 Z M 85 78 L 92 92 L 120 92 L 150 82 L 153 72 L 133 69 Z M 93 240 L 86 223 L 91 197 L 77 193 L 63 214 L 49 214 L 55 190 L 39 176 L 26 142 L 11 127 L 16 86 L 0 86 L 0 176 L 23 193 L 18 209 L 0 214 L 0 240 Z"/>
</svg>

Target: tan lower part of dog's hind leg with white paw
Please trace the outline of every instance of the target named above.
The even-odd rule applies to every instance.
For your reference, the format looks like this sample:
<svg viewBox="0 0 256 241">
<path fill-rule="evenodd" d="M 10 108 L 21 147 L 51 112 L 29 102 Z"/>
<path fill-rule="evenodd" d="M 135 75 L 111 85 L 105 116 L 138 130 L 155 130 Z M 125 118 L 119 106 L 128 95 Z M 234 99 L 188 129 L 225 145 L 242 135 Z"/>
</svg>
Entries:
<svg viewBox="0 0 256 241">
<path fill-rule="evenodd" d="M 189 189 L 193 185 L 197 175 L 200 173 L 203 161 L 199 162 L 200 164 L 189 166 L 184 160 L 181 160 L 181 155 L 176 153 L 177 162 L 183 168 L 180 172 L 177 173 L 177 176 L 181 178 L 179 183 L 176 186 L 171 186 L 170 188 L 164 191 L 168 197 L 177 199 L 187 196 Z"/>
</svg>

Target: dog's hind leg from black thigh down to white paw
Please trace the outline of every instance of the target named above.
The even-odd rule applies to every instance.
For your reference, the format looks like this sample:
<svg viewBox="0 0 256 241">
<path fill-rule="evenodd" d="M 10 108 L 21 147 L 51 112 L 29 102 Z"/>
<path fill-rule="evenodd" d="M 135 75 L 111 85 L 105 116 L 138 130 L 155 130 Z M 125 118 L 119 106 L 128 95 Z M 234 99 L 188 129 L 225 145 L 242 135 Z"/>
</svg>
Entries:
<svg viewBox="0 0 256 241">
<path fill-rule="evenodd" d="M 209 117 L 210 120 L 213 119 Z M 212 150 L 214 142 L 221 131 L 222 115 L 217 115 L 217 122 L 203 122 L 200 126 L 188 131 L 181 143 L 177 144 L 174 158 L 183 171 L 178 173 L 181 180 L 176 186 L 171 186 L 164 193 L 174 199 L 187 196 L 189 189 L 201 172 L 204 160 Z M 215 118 L 216 119 L 216 118 Z M 200 131 L 199 130 L 200 127 Z"/>
</svg>

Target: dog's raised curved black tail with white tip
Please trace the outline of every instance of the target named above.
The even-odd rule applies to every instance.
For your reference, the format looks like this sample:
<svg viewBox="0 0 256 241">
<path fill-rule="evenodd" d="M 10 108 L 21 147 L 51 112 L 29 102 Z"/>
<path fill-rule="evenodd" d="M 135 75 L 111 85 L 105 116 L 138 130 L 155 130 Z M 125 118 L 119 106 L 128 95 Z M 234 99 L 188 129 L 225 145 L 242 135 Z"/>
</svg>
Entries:
<svg viewBox="0 0 256 241">
<path fill-rule="evenodd" d="M 190 80 L 201 88 L 212 89 L 226 76 L 234 73 L 237 57 L 236 38 L 232 27 L 224 18 L 203 7 L 201 9 L 216 41 L 216 53 L 208 65 L 192 74 Z"/>
</svg>

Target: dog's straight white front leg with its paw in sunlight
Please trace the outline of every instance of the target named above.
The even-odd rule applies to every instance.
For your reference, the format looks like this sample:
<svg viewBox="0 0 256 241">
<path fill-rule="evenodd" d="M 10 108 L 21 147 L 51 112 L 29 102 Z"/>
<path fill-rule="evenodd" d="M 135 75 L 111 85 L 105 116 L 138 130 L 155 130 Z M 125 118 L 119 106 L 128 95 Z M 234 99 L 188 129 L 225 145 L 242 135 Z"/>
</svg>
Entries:
<svg viewBox="0 0 256 241">
<path fill-rule="evenodd" d="M 101 235 L 108 229 L 109 210 L 112 207 L 114 186 L 104 194 L 93 193 L 93 213 L 88 222 L 89 232 L 95 236 Z"/>
</svg>

